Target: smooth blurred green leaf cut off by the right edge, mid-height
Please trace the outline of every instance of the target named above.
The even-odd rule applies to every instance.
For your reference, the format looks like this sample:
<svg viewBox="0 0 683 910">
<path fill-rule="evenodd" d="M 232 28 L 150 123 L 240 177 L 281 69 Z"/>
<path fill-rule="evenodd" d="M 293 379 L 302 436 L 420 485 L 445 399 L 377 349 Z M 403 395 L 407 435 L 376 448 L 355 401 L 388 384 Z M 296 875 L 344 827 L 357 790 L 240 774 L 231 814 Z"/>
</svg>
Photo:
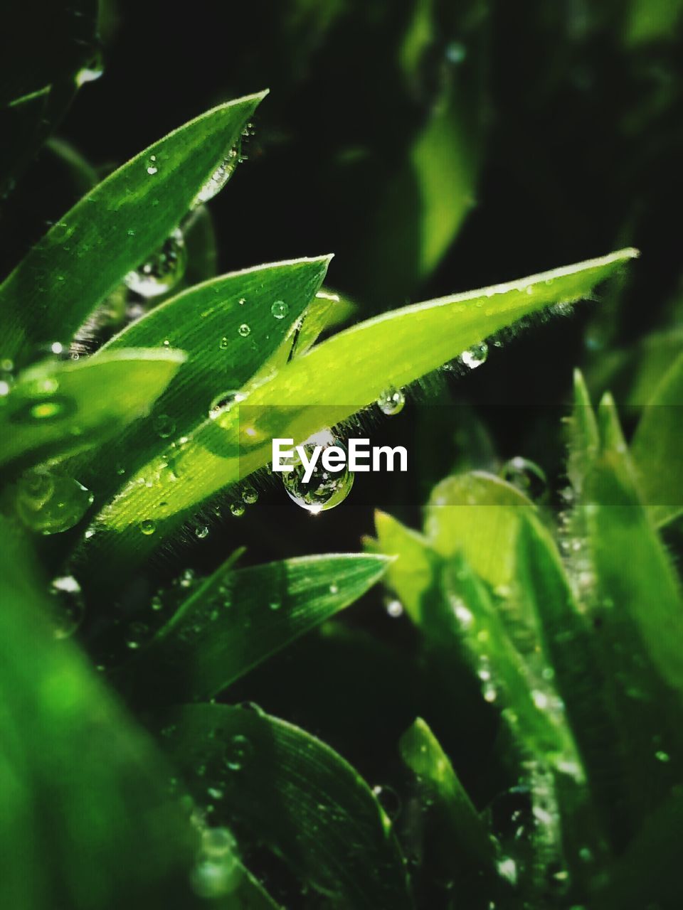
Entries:
<svg viewBox="0 0 683 910">
<path fill-rule="evenodd" d="M 638 482 L 658 527 L 683 513 L 683 354 L 671 364 L 643 409 L 631 453 Z"/>
</svg>

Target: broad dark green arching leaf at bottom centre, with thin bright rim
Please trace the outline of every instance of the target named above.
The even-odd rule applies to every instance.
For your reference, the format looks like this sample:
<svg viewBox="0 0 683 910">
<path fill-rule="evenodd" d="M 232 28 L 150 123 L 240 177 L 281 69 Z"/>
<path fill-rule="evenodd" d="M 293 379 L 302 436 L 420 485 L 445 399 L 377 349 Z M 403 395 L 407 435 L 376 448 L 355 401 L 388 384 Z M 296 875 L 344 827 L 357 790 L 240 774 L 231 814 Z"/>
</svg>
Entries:
<svg viewBox="0 0 683 910">
<path fill-rule="evenodd" d="M 168 722 L 164 743 L 190 788 L 222 793 L 217 821 L 235 819 L 332 907 L 413 907 L 389 819 L 328 745 L 258 709 L 189 705 Z"/>
</svg>

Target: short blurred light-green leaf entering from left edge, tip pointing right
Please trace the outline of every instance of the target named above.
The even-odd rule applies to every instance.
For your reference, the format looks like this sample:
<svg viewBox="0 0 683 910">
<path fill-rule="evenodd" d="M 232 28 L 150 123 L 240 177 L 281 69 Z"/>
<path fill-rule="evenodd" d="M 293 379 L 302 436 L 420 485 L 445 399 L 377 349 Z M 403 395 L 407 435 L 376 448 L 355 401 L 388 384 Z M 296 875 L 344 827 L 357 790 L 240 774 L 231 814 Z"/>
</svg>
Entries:
<svg viewBox="0 0 683 910">
<path fill-rule="evenodd" d="M 184 360 L 179 350 L 121 349 L 26 369 L 0 399 L 0 464 L 25 467 L 110 440 L 148 412 Z"/>
</svg>

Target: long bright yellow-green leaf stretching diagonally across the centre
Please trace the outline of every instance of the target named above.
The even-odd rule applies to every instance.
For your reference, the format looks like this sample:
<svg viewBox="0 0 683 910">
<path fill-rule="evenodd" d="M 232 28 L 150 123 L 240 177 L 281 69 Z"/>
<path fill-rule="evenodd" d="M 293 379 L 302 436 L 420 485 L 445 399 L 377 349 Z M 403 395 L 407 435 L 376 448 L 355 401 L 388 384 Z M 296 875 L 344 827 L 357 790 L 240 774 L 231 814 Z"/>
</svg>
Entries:
<svg viewBox="0 0 683 910">
<path fill-rule="evenodd" d="M 149 547 L 175 531 L 182 516 L 202 501 L 265 465 L 271 439 L 301 442 L 346 420 L 372 404 L 387 386 L 418 379 L 515 319 L 550 303 L 586 297 L 636 255 L 626 249 L 510 284 L 393 310 L 323 341 L 272 379 L 245 389 L 239 407 L 218 420 L 206 420 L 180 452 L 169 451 L 178 466 L 172 490 L 164 481 L 164 459 L 141 470 L 147 485 L 132 479 L 99 516 L 103 529 L 117 531 L 107 541 L 108 535 L 101 535 L 107 559 L 110 547 L 119 554 L 126 551 L 127 559 L 142 555 L 138 521 L 143 515 L 155 518 L 159 502 L 167 502 L 174 515 L 158 522 L 158 533 L 146 541 Z M 392 359 L 382 355 L 387 346 Z"/>
</svg>

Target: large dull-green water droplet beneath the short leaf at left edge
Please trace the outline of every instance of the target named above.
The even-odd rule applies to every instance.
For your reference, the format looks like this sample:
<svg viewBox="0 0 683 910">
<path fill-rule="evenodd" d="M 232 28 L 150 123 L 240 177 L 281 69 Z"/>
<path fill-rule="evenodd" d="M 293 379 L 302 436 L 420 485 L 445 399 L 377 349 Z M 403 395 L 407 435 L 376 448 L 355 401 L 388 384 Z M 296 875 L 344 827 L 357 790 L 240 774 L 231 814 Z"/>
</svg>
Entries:
<svg viewBox="0 0 683 910">
<path fill-rule="evenodd" d="M 17 483 L 16 512 L 31 531 L 60 534 L 81 521 L 94 499 L 72 477 L 29 470 Z"/>
</svg>

